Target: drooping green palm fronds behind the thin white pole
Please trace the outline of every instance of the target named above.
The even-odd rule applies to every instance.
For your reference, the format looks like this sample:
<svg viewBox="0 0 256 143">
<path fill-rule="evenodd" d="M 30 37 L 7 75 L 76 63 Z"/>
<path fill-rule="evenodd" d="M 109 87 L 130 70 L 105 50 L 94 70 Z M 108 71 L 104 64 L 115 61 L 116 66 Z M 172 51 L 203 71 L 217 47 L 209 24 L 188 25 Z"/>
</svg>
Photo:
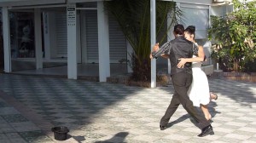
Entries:
<svg viewBox="0 0 256 143">
<path fill-rule="evenodd" d="M 132 57 L 137 59 L 135 63 L 138 66 L 147 65 L 145 69 L 148 71 L 143 72 L 150 73 L 150 60 L 148 58 L 151 51 L 150 0 L 104 1 L 104 8 L 113 15 L 126 39 L 131 43 L 134 51 Z M 167 31 L 172 26 L 166 26 L 167 19 L 171 18 L 171 23 L 175 24 L 181 15 L 182 13 L 176 7 L 176 3 L 156 1 L 156 36 L 160 43 L 166 40 Z M 140 68 L 135 69 L 140 70 Z M 133 72 L 135 71 L 133 70 Z M 150 77 L 150 74 L 148 75 Z M 147 76 L 145 78 L 148 80 Z"/>
</svg>

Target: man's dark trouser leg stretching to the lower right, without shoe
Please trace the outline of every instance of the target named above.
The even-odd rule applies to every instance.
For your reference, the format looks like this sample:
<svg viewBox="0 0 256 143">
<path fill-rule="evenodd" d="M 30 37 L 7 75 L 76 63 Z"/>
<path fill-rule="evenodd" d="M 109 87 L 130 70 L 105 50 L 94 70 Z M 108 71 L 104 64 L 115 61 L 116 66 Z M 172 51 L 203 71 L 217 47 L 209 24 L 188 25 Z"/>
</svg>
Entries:
<svg viewBox="0 0 256 143">
<path fill-rule="evenodd" d="M 177 98 L 183 105 L 183 108 L 190 114 L 190 116 L 195 118 L 195 121 L 200 123 L 199 126 L 201 129 L 209 126 L 210 123 L 207 121 L 207 119 L 196 110 L 192 101 L 189 100 L 187 91 L 192 82 L 192 75 L 186 72 L 178 72 L 172 75 L 172 80 L 174 89 L 177 92 Z"/>
</svg>

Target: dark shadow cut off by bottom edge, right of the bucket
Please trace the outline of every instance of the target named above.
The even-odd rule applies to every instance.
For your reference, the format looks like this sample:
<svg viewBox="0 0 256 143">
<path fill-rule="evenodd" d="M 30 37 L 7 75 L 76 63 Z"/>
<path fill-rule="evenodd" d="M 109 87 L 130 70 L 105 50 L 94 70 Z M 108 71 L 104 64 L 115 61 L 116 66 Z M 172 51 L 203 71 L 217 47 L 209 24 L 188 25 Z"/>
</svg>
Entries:
<svg viewBox="0 0 256 143">
<path fill-rule="evenodd" d="M 125 137 L 128 135 L 128 132 L 119 132 L 114 134 L 111 139 L 96 141 L 95 143 L 125 143 Z"/>
</svg>

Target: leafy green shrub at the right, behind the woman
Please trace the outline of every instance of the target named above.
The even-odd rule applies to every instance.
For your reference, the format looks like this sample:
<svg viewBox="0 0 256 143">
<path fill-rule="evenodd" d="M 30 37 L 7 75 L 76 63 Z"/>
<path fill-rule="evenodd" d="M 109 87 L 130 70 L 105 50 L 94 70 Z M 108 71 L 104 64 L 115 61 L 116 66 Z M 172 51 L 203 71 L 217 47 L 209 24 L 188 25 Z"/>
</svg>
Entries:
<svg viewBox="0 0 256 143">
<path fill-rule="evenodd" d="M 234 0 L 235 11 L 224 17 L 211 16 L 212 58 L 224 71 L 243 72 L 256 59 L 256 1 Z"/>
</svg>

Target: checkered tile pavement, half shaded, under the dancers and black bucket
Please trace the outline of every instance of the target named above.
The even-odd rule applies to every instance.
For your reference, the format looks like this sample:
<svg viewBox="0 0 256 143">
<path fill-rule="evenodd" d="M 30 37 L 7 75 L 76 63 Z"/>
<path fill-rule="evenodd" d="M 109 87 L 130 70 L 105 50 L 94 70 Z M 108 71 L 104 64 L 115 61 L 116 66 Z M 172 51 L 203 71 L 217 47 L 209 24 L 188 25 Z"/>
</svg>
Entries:
<svg viewBox="0 0 256 143">
<path fill-rule="evenodd" d="M 0 74 L 0 142 L 256 142 L 256 83 L 210 79 L 214 135 L 201 132 L 182 106 L 166 130 L 160 117 L 173 88 L 145 89 L 53 77 Z M 50 130 L 70 129 L 57 141 Z"/>
</svg>

